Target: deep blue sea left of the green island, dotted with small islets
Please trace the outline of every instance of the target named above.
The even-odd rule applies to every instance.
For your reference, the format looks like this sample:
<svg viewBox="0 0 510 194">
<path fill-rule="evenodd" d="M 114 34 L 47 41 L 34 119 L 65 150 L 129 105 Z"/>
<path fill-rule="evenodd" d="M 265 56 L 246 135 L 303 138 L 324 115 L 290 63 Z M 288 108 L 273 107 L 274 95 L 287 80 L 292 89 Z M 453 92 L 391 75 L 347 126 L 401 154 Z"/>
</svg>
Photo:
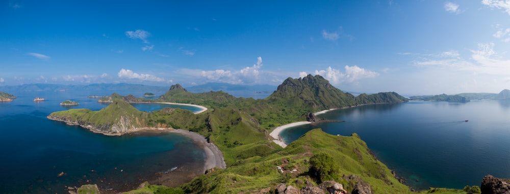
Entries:
<svg viewBox="0 0 510 194">
<path fill-rule="evenodd" d="M 88 96 L 112 92 L 6 92 L 18 98 L 0 103 L 0 193 L 67 193 L 67 186 L 82 184 L 129 189 L 174 167 L 177 169 L 169 173 L 203 168 L 203 151 L 179 134 L 106 136 L 46 118 L 69 108 L 99 110 L 108 104 Z M 35 97 L 46 100 L 34 102 Z M 59 105 L 67 99 L 80 105 Z M 133 105 L 147 112 L 163 107 L 198 110 L 182 105 Z M 58 177 L 61 172 L 64 176 Z"/>
</svg>

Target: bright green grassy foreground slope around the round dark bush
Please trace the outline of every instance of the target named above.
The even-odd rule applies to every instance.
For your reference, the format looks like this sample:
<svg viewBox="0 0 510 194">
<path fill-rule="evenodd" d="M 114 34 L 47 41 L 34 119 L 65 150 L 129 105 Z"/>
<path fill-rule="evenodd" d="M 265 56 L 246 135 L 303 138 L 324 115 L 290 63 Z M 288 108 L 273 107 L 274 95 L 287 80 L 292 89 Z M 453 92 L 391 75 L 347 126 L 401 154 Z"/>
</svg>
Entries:
<svg viewBox="0 0 510 194">
<path fill-rule="evenodd" d="M 309 131 L 279 152 L 240 160 L 225 170 L 197 177 L 181 188 L 192 193 L 251 193 L 268 187 L 274 190 L 279 183 L 298 188 L 305 186 L 307 181 L 318 185 L 321 181 L 310 172 L 309 161 L 319 153 L 327 153 L 338 167 L 327 180 L 344 184 L 349 192 L 358 181 L 348 177 L 355 175 L 369 182 L 375 193 L 411 193 L 393 177 L 385 164 L 370 154 L 358 135 L 336 136 L 320 129 Z M 276 166 L 282 167 L 284 173 Z"/>
</svg>

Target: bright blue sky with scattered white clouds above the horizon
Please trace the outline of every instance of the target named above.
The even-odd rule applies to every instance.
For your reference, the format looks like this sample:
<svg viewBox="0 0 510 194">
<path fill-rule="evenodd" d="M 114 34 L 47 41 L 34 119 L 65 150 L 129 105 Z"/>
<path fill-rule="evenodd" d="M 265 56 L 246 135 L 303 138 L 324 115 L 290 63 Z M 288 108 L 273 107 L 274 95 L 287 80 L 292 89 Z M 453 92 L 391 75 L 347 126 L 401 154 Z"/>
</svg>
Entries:
<svg viewBox="0 0 510 194">
<path fill-rule="evenodd" d="M 510 89 L 510 1 L 2 1 L 0 86 Z"/>
</svg>

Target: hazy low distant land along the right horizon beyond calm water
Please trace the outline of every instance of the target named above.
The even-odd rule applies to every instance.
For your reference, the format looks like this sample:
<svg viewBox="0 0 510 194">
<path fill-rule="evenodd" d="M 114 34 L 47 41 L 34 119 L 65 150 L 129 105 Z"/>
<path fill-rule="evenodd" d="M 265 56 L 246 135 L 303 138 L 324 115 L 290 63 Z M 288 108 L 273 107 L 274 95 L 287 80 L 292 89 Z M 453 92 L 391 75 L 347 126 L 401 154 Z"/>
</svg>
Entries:
<svg viewBox="0 0 510 194">
<path fill-rule="evenodd" d="M 424 101 L 446 101 L 446 102 L 469 102 L 470 100 L 510 100 L 510 90 L 504 89 L 498 94 L 495 93 L 461 93 L 456 95 L 424 95 L 411 96 L 412 100 Z"/>
</svg>

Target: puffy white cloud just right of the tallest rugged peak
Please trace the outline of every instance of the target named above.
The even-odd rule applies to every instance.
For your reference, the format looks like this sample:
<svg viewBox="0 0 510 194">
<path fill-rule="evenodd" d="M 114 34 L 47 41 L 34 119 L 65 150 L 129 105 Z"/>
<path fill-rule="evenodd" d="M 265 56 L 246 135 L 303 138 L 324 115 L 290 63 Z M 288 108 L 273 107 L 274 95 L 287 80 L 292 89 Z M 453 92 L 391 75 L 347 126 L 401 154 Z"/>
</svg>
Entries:
<svg viewBox="0 0 510 194">
<path fill-rule="evenodd" d="M 372 77 L 376 77 L 379 75 L 379 73 L 377 73 L 375 71 L 369 71 L 369 70 L 360 68 L 358 66 L 346 65 L 344 67 L 344 69 L 345 69 L 345 73 L 342 73 L 338 69 L 333 69 L 331 67 L 327 67 L 325 70 L 315 70 L 315 74 L 323 76 L 324 78 L 329 80 L 329 82 L 331 82 L 331 84 L 334 84 L 334 85 L 338 85 L 343 82 L 355 82 L 360 79 L 372 78 Z M 306 75 L 307 75 L 306 72 L 299 73 L 300 77 L 304 77 Z"/>
</svg>

